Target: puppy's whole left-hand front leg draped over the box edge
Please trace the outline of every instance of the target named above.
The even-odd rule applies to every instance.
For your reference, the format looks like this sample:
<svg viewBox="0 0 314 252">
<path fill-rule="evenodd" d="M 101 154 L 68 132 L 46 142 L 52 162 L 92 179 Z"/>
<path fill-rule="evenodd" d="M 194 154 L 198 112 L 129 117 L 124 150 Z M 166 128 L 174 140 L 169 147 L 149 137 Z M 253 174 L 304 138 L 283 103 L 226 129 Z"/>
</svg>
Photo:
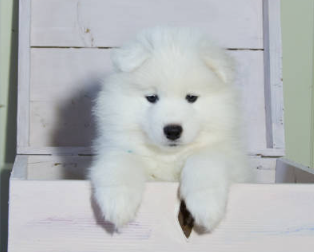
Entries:
<svg viewBox="0 0 314 252">
<path fill-rule="evenodd" d="M 145 186 L 139 158 L 129 153 L 98 156 L 90 179 L 105 220 L 118 229 L 134 219 Z"/>
</svg>

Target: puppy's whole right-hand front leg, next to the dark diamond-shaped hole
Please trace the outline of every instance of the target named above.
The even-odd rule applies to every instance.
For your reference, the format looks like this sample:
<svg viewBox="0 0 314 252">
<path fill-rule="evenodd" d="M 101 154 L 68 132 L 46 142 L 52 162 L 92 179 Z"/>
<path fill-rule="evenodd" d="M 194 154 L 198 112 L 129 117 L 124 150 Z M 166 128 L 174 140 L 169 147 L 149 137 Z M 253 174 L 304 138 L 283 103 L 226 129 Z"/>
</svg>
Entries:
<svg viewBox="0 0 314 252">
<path fill-rule="evenodd" d="M 201 231 L 212 231 L 224 216 L 232 168 L 226 160 L 222 153 L 197 154 L 182 170 L 180 195 Z"/>
</svg>

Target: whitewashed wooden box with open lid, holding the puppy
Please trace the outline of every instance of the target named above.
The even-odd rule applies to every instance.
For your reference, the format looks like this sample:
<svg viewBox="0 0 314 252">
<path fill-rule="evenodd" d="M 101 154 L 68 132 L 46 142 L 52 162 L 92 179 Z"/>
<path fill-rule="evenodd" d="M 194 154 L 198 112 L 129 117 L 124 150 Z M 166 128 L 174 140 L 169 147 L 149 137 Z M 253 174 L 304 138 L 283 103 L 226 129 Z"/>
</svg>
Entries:
<svg viewBox="0 0 314 252">
<path fill-rule="evenodd" d="M 314 186 L 274 184 L 299 176 L 277 160 L 284 155 L 279 0 L 20 0 L 19 9 L 9 252 L 313 250 Z M 113 233 L 84 179 L 92 101 L 111 71 L 110 48 L 163 24 L 199 27 L 237 60 L 259 182 L 232 186 L 220 226 L 189 238 L 178 222 L 178 183 L 147 183 L 137 219 Z"/>
</svg>

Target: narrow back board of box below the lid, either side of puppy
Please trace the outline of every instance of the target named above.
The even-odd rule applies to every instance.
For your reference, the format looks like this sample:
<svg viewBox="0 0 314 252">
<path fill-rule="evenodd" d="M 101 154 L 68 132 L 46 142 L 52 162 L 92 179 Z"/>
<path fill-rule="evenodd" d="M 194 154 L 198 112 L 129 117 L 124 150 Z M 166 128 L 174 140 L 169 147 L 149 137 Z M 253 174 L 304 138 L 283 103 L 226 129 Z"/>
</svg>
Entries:
<svg viewBox="0 0 314 252">
<path fill-rule="evenodd" d="M 27 163 L 28 180 L 86 179 L 92 156 L 30 155 Z M 276 158 L 249 157 L 257 183 L 275 182 Z"/>
</svg>

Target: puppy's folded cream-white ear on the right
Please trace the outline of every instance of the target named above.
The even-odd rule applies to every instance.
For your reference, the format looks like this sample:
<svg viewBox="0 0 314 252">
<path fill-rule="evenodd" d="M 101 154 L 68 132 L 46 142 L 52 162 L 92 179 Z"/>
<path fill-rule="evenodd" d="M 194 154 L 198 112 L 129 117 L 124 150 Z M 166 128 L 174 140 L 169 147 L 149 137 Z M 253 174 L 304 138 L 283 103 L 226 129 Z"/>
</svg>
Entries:
<svg viewBox="0 0 314 252">
<path fill-rule="evenodd" d="M 224 83 L 232 83 L 235 79 L 235 60 L 227 52 L 209 41 L 202 41 L 201 57 L 205 64 Z"/>
</svg>

